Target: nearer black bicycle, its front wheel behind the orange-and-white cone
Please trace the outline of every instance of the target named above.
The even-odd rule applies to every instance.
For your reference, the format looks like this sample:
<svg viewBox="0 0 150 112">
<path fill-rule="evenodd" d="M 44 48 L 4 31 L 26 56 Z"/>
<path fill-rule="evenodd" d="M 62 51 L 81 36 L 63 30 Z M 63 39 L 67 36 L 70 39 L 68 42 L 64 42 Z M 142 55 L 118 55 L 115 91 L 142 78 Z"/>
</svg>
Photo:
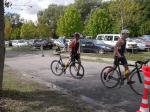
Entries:
<svg viewBox="0 0 150 112">
<path fill-rule="evenodd" d="M 135 64 L 128 64 L 128 66 L 133 67 L 133 69 L 129 73 L 129 81 L 134 81 L 134 83 L 129 84 L 129 86 L 137 95 L 143 95 L 144 75 L 141 71 L 141 68 L 142 65 L 148 64 L 149 61 L 150 59 L 147 59 L 145 61 L 136 61 Z M 120 65 L 122 64 L 118 62 L 115 68 L 113 68 L 112 66 L 106 66 L 102 69 L 100 76 L 101 81 L 105 87 L 115 88 L 119 85 L 119 88 L 121 88 L 121 86 L 124 84 L 126 78 L 121 73 Z"/>
</svg>

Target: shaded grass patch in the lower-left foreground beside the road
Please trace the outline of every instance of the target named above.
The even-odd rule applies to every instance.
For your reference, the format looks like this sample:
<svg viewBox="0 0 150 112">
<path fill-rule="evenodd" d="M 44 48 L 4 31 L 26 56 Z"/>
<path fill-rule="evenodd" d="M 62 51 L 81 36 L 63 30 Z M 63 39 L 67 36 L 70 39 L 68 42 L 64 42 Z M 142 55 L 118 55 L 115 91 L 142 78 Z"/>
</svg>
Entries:
<svg viewBox="0 0 150 112">
<path fill-rule="evenodd" d="M 3 91 L 0 94 L 4 112 L 93 112 L 87 104 L 25 80 L 9 67 L 5 67 Z"/>
</svg>

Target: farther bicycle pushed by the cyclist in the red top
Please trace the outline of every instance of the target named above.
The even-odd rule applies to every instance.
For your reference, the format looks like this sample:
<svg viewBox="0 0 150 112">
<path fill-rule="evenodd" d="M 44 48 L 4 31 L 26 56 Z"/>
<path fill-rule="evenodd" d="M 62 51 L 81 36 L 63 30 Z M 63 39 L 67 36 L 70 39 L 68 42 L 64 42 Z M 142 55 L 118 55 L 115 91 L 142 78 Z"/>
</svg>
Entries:
<svg viewBox="0 0 150 112">
<path fill-rule="evenodd" d="M 84 76 L 84 67 L 80 65 L 79 74 L 77 74 L 78 71 L 78 62 L 69 62 L 69 65 L 66 67 L 63 60 L 61 53 L 58 53 L 59 60 L 53 60 L 51 62 L 51 71 L 56 76 L 61 76 L 63 73 L 66 74 L 67 68 L 69 68 L 70 74 L 75 79 L 81 79 Z"/>
</svg>

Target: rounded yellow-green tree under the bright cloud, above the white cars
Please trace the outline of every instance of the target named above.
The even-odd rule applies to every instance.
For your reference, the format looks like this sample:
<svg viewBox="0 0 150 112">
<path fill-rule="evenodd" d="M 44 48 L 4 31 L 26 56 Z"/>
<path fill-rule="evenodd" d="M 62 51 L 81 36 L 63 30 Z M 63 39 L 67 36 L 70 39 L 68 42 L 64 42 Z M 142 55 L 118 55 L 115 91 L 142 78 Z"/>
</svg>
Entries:
<svg viewBox="0 0 150 112">
<path fill-rule="evenodd" d="M 24 39 L 35 38 L 35 36 L 36 36 L 36 27 L 35 27 L 34 23 L 29 21 L 29 22 L 23 24 L 22 27 L 21 27 L 20 36 L 21 36 L 21 38 L 24 38 Z"/>
</svg>

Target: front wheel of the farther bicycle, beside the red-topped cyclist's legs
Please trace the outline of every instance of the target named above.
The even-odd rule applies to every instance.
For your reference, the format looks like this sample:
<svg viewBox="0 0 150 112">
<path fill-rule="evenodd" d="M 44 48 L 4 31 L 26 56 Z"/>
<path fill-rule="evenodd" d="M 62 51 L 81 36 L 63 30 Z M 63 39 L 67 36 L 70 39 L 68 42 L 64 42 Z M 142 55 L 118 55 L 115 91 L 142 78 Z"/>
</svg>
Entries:
<svg viewBox="0 0 150 112">
<path fill-rule="evenodd" d="M 80 65 L 80 75 L 77 75 L 77 67 L 78 67 L 79 63 L 75 62 L 75 63 L 71 63 L 69 66 L 69 70 L 70 70 L 70 74 L 73 78 L 75 79 L 82 79 L 84 76 L 84 67 L 82 65 Z M 75 72 L 73 72 L 73 70 L 75 70 Z"/>
</svg>

